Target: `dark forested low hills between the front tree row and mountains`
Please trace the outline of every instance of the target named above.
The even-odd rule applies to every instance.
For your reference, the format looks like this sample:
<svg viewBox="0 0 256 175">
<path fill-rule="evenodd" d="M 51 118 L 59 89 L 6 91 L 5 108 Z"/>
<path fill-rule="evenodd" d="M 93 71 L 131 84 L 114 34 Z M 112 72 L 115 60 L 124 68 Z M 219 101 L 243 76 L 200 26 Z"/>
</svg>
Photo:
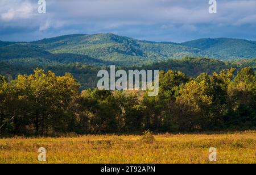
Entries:
<svg viewBox="0 0 256 175">
<path fill-rule="evenodd" d="M 63 54 L 64 55 L 64 54 Z M 64 57 L 64 56 L 63 56 Z M 73 55 L 66 54 L 67 59 L 63 60 L 63 57 L 58 59 L 12 59 L 8 61 L 0 61 L 0 74 L 5 76 L 8 81 L 14 80 L 19 74 L 32 74 L 34 69 L 40 68 L 45 70 L 51 70 L 57 76 L 64 76 L 66 72 L 72 74 L 73 77 L 80 83 L 80 91 L 89 88 L 97 87 L 97 73 L 101 69 L 109 70 L 110 65 L 90 65 L 88 62 L 81 62 L 81 59 L 74 59 Z M 73 59 L 71 59 L 71 57 Z M 73 61 L 75 60 L 75 61 Z M 93 61 L 93 60 L 92 60 Z M 205 72 L 212 74 L 214 72 L 220 72 L 222 69 L 236 68 L 234 74 L 237 74 L 242 68 L 250 66 L 256 71 L 256 59 L 245 60 L 232 60 L 232 61 L 220 61 L 214 59 L 207 59 L 201 57 L 184 57 L 183 59 L 169 59 L 162 62 L 154 62 L 153 64 L 143 66 L 117 66 L 118 69 L 144 69 L 144 70 L 168 70 L 181 71 L 187 76 L 196 78 L 200 73 Z"/>
</svg>

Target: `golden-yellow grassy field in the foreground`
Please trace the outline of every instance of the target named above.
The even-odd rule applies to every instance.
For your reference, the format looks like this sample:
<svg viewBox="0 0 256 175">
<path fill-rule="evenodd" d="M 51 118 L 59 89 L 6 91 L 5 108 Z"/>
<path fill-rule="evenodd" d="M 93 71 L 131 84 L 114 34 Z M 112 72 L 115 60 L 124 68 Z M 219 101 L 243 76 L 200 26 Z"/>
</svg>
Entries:
<svg viewBox="0 0 256 175">
<path fill-rule="evenodd" d="M 0 163 L 256 163 L 256 131 L 232 134 L 86 135 L 67 138 L 0 139 Z M 217 149 L 217 161 L 208 159 Z"/>
</svg>

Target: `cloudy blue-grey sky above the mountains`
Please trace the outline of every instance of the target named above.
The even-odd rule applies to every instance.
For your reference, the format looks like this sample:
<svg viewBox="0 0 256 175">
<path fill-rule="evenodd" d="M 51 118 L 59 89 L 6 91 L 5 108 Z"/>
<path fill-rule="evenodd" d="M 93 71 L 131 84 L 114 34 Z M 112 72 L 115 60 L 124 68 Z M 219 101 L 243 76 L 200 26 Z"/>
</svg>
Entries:
<svg viewBox="0 0 256 175">
<path fill-rule="evenodd" d="M 0 0 L 0 40 L 113 33 L 180 43 L 199 38 L 256 40 L 256 0 Z"/>
</svg>

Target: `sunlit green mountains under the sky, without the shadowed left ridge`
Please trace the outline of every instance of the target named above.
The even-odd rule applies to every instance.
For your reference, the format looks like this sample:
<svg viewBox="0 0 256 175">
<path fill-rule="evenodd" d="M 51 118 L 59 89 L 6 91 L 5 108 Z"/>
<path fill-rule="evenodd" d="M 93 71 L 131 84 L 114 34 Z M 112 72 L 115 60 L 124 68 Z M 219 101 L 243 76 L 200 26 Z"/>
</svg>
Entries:
<svg viewBox="0 0 256 175">
<path fill-rule="evenodd" d="M 241 39 L 199 39 L 177 44 L 141 41 L 114 34 L 67 35 L 35 41 L 52 53 L 88 55 L 123 65 L 149 64 L 170 58 L 201 56 L 211 59 L 250 59 L 256 57 L 256 42 Z"/>
</svg>

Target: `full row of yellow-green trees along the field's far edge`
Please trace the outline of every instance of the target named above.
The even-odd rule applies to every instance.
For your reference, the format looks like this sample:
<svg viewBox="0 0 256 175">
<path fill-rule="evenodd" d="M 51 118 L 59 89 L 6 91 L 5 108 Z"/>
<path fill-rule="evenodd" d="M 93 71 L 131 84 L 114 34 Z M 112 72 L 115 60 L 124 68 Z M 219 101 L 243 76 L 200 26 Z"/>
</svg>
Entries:
<svg viewBox="0 0 256 175">
<path fill-rule="evenodd" d="M 36 69 L 14 81 L 0 76 L 0 134 L 57 135 L 192 132 L 256 128 L 256 77 L 246 67 L 191 78 L 168 70 L 159 95 L 86 89 L 69 73 Z"/>
</svg>

